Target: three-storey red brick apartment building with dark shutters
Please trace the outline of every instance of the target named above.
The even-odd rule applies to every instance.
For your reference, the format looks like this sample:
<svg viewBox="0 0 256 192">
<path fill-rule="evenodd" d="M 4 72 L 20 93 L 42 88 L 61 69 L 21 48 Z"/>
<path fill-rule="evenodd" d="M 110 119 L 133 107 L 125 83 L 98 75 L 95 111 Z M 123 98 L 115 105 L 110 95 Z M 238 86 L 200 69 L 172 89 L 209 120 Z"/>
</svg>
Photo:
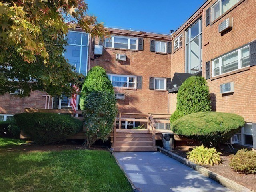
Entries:
<svg viewBox="0 0 256 192">
<path fill-rule="evenodd" d="M 108 28 L 111 39 L 100 40 L 70 32 L 65 56 L 83 74 L 93 66 L 104 67 L 121 112 L 172 114 L 179 87 L 173 83 L 175 76 L 184 80 L 202 71 L 212 111 L 236 113 L 246 121 L 232 142 L 256 148 L 255 10 L 255 0 L 207 0 L 171 36 Z M 102 55 L 95 54 L 98 45 L 104 47 Z M 46 95 L 35 91 L 24 99 L 0 96 L 0 118 L 24 107 L 69 107 L 68 97 Z M 134 126 L 130 124 L 124 127 Z"/>
</svg>

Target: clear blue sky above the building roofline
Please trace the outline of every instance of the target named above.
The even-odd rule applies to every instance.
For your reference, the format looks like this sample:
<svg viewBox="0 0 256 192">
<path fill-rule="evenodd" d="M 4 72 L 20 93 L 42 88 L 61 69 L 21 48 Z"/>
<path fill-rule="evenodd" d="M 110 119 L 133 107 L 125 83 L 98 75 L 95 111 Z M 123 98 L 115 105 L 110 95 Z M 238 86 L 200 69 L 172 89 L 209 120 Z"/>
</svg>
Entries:
<svg viewBox="0 0 256 192">
<path fill-rule="evenodd" d="M 206 0 L 85 0 L 106 27 L 169 34 Z"/>
</svg>

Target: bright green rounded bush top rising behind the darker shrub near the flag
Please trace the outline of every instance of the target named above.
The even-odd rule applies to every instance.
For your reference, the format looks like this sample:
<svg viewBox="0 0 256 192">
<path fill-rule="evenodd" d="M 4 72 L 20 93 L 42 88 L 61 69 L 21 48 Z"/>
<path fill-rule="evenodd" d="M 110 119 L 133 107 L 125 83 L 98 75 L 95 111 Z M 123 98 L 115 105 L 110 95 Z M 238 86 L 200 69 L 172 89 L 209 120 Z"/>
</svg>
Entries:
<svg viewBox="0 0 256 192">
<path fill-rule="evenodd" d="M 86 95 L 92 91 L 107 91 L 114 94 L 114 89 L 108 75 L 102 67 L 92 67 L 85 77 L 84 84 L 81 91 L 80 107 L 84 110 L 84 100 Z"/>
</svg>

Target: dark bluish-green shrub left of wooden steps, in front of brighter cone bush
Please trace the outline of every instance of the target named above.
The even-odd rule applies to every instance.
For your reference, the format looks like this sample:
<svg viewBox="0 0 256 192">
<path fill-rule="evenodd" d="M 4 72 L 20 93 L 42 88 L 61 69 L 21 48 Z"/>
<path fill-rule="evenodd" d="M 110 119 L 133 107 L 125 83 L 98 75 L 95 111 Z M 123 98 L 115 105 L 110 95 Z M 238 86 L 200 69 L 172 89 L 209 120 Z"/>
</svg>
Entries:
<svg viewBox="0 0 256 192">
<path fill-rule="evenodd" d="M 108 91 L 93 91 L 84 100 L 85 146 L 90 147 L 96 140 L 105 141 L 113 129 L 117 114 L 116 99 Z"/>
</svg>

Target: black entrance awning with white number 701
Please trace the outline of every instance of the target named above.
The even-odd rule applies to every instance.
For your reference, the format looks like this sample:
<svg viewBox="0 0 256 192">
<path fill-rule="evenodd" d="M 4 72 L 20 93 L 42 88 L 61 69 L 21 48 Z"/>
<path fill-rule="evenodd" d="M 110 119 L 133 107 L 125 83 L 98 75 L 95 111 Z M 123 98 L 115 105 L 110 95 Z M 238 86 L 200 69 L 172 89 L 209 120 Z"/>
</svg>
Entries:
<svg viewBox="0 0 256 192">
<path fill-rule="evenodd" d="M 186 79 L 188 79 L 188 77 L 191 77 L 191 76 L 202 77 L 202 71 L 199 71 L 199 72 L 194 73 L 194 74 L 191 74 L 191 73 L 174 73 L 174 75 L 172 77 L 172 83 L 170 85 L 170 87 L 172 87 L 172 89 L 168 89 L 169 93 L 176 93 L 179 90 L 180 85 Z"/>
</svg>

